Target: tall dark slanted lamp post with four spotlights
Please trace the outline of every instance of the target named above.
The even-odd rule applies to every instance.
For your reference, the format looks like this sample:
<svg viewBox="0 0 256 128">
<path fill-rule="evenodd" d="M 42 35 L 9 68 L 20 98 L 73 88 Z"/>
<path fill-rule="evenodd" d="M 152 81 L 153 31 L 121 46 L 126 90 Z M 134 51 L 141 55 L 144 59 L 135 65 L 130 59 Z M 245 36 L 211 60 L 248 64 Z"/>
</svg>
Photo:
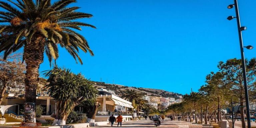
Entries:
<svg viewBox="0 0 256 128">
<path fill-rule="evenodd" d="M 243 78 L 244 78 L 244 91 L 245 91 L 245 102 L 246 102 L 246 117 L 247 117 L 247 127 L 251 128 L 251 119 L 250 119 L 250 108 L 249 108 L 249 96 L 248 96 L 248 88 L 247 88 L 247 79 L 246 79 L 246 69 L 245 69 L 245 59 L 244 59 L 244 46 L 243 46 L 243 38 L 242 38 L 242 31 L 246 30 L 246 27 L 241 27 L 240 18 L 239 18 L 239 11 L 238 11 L 238 4 L 237 0 L 234 0 L 234 4 L 229 5 L 228 9 L 231 9 L 235 6 L 236 10 L 236 17 L 229 16 L 227 19 L 232 20 L 236 18 L 237 27 L 238 27 L 238 35 L 239 35 L 239 42 L 240 42 L 240 51 L 241 51 L 241 60 L 242 60 L 242 68 L 243 68 Z M 246 46 L 247 49 L 252 49 L 251 46 Z"/>
</svg>

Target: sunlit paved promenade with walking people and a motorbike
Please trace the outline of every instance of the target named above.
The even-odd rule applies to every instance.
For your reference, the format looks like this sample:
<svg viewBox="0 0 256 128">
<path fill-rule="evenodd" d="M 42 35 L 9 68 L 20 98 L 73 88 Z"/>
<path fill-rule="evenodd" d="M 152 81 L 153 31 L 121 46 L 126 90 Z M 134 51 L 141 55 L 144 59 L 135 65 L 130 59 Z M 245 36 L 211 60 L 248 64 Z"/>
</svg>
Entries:
<svg viewBox="0 0 256 128">
<path fill-rule="evenodd" d="M 98 126 L 96 128 L 109 128 L 110 124 L 105 126 Z M 114 127 L 117 127 L 117 123 L 114 123 Z M 120 127 L 120 126 L 119 126 Z M 151 128 L 154 126 L 154 122 L 152 120 L 139 120 L 139 121 L 128 121 L 122 122 L 122 127 L 124 128 Z M 160 128 L 202 128 L 202 125 L 192 124 L 190 122 L 185 121 L 171 121 L 170 119 L 166 119 L 165 122 L 161 122 Z"/>
</svg>

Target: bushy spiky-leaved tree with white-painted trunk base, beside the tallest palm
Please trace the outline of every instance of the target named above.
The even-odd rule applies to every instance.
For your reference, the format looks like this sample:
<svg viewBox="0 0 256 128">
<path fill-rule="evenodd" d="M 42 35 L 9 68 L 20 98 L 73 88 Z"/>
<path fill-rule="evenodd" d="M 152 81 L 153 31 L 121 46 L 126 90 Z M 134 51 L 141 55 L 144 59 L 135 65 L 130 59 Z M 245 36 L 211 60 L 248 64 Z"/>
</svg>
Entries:
<svg viewBox="0 0 256 128">
<path fill-rule="evenodd" d="M 48 89 L 49 96 L 57 101 L 56 117 L 52 125 L 65 125 L 69 113 L 75 106 L 97 99 L 98 91 L 93 82 L 81 74 L 74 74 L 68 69 L 55 66 L 44 75 L 48 77 L 49 82 L 45 88 Z"/>
</svg>

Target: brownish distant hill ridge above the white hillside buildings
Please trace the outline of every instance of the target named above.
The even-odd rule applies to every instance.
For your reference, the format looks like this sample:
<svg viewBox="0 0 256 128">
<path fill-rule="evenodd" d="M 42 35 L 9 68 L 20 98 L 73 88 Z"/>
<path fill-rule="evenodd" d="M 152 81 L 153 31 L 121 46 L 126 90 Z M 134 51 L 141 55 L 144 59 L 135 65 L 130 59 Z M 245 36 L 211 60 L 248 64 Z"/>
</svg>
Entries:
<svg viewBox="0 0 256 128">
<path fill-rule="evenodd" d="M 117 95 L 121 95 L 122 91 L 125 89 L 138 89 L 141 90 L 142 92 L 145 93 L 147 96 L 159 96 L 159 97 L 172 97 L 175 99 L 180 98 L 183 96 L 182 94 L 174 93 L 174 92 L 169 92 L 161 89 L 152 89 L 152 88 L 142 88 L 142 87 L 128 87 L 124 85 L 119 85 L 119 84 L 107 84 L 105 82 L 96 82 L 94 81 L 98 89 L 107 89 L 107 90 L 112 90 L 115 92 Z"/>
</svg>

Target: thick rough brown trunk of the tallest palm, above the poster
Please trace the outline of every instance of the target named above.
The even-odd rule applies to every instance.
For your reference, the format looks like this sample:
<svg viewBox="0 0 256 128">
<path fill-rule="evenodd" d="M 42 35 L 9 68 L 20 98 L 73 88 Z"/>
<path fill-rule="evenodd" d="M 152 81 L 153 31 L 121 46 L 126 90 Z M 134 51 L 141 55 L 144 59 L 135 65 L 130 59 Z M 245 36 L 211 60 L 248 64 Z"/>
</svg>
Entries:
<svg viewBox="0 0 256 128">
<path fill-rule="evenodd" d="M 24 58 L 26 66 L 25 102 L 36 102 L 36 88 L 39 81 L 38 69 L 43 62 L 44 42 L 42 36 L 34 35 L 30 44 L 25 44 Z"/>
</svg>

